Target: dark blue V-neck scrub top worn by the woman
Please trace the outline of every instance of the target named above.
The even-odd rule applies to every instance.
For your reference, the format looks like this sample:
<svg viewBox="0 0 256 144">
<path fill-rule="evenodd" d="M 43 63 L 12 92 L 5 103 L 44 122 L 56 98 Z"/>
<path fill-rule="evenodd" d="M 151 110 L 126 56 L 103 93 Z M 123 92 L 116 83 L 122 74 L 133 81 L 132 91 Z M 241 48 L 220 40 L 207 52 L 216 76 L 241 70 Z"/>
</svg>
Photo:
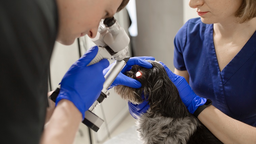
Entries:
<svg viewBox="0 0 256 144">
<path fill-rule="evenodd" d="M 174 66 L 188 71 L 189 85 L 197 95 L 211 99 L 226 115 L 256 126 L 256 32 L 222 71 L 213 24 L 190 19 L 178 31 L 174 45 Z"/>
</svg>

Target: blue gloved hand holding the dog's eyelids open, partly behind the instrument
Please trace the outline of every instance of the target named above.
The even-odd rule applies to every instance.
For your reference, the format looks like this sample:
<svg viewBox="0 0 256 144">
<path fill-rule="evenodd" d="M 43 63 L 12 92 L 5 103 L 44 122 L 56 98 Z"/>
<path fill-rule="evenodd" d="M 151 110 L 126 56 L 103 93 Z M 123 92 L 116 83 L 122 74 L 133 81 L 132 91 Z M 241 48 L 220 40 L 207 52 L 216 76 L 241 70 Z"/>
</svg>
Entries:
<svg viewBox="0 0 256 144">
<path fill-rule="evenodd" d="M 117 85 L 125 85 L 125 86 L 129 86 L 132 88 L 140 88 L 141 83 L 139 81 L 124 75 L 124 73 L 127 72 L 128 70 L 130 70 L 133 65 L 139 65 L 139 66 L 142 66 L 145 68 L 152 68 L 152 64 L 145 60 L 153 60 L 154 61 L 155 58 L 154 57 L 132 57 L 132 58 L 130 58 L 128 60 L 128 62 L 126 63 L 125 67 L 123 68 L 123 70 L 119 73 L 119 75 L 114 80 L 114 82 L 110 85 L 109 88 L 115 87 Z M 109 65 L 108 68 L 103 70 L 104 75 L 108 72 L 108 70 L 111 68 L 111 66 L 113 64 Z"/>
</svg>

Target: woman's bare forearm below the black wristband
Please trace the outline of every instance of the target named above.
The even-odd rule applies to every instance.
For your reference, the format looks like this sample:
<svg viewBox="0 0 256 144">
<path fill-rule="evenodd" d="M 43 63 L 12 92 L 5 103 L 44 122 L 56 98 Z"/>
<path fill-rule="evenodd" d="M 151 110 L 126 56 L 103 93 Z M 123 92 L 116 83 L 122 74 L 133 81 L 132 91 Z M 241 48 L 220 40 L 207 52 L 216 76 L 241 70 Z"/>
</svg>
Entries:
<svg viewBox="0 0 256 144">
<path fill-rule="evenodd" d="M 198 119 L 225 144 L 256 144 L 256 128 L 234 120 L 213 105 L 204 109 Z"/>
</svg>

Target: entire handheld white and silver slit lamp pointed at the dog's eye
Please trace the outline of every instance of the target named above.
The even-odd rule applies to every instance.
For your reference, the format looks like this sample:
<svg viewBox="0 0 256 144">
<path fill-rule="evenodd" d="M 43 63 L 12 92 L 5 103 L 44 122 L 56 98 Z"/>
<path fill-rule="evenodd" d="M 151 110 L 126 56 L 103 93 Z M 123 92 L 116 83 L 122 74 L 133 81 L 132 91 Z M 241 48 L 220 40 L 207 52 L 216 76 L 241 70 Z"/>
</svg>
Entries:
<svg viewBox="0 0 256 144">
<path fill-rule="evenodd" d="M 107 96 L 109 96 L 107 89 L 114 82 L 129 60 L 129 57 L 126 56 L 128 55 L 128 44 L 130 43 L 130 38 L 125 30 L 119 25 L 117 20 L 112 17 L 100 22 L 97 35 L 92 39 L 92 41 L 99 49 L 97 55 L 88 64 L 88 66 L 95 64 L 104 58 L 116 60 L 104 76 L 105 82 L 99 98 L 93 103 L 90 109 L 85 112 L 85 119 L 82 122 L 97 132 L 104 120 L 93 114 L 92 111 L 98 104 L 107 98 Z"/>
</svg>

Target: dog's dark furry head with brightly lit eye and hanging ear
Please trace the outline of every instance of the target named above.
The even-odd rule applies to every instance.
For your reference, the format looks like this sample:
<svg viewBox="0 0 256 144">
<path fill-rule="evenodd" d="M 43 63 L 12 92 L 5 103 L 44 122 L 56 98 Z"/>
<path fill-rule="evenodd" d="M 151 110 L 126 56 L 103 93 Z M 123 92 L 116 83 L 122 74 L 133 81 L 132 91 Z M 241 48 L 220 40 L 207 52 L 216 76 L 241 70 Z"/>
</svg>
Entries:
<svg viewBox="0 0 256 144">
<path fill-rule="evenodd" d="M 186 106 L 181 101 L 179 91 L 169 79 L 164 67 L 156 61 L 148 62 L 153 68 L 147 69 L 133 65 L 131 70 L 126 72 L 126 76 L 141 83 L 140 88 L 119 85 L 115 87 L 115 91 L 133 104 L 142 103 L 146 99 L 152 111 L 161 113 L 165 117 L 183 116 Z M 181 109 L 176 110 L 177 107 Z"/>
</svg>

